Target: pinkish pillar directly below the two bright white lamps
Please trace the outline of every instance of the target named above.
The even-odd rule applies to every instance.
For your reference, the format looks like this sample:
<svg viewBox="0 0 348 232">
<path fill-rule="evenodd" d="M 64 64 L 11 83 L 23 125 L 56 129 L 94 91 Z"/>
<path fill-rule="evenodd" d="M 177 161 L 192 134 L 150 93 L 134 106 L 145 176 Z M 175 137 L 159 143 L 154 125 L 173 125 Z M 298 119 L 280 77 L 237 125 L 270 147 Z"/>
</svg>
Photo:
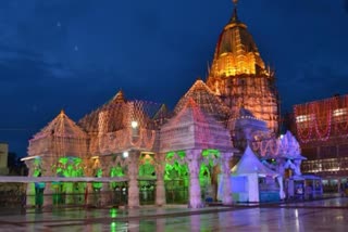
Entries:
<svg viewBox="0 0 348 232">
<path fill-rule="evenodd" d="M 128 154 L 128 207 L 137 208 L 140 206 L 139 202 L 139 186 L 138 186 L 138 173 L 139 173 L 139 151 L 130 151 Z"/>
</svg>

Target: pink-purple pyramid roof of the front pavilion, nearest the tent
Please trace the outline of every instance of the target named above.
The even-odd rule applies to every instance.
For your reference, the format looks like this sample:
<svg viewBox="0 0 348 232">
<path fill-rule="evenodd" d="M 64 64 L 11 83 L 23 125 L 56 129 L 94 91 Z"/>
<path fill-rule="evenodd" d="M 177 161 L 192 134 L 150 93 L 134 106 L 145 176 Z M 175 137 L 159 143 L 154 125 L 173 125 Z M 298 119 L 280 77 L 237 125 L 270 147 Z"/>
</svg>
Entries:
<svg viewBox="0 0 348 232">
<path fill-rule="evenodd" d="M 234 152 L 228 129 L 204 114 L 189 98 L 183 108 L 161 127 L 161 152 L 217 149 Z"/>
</svg>

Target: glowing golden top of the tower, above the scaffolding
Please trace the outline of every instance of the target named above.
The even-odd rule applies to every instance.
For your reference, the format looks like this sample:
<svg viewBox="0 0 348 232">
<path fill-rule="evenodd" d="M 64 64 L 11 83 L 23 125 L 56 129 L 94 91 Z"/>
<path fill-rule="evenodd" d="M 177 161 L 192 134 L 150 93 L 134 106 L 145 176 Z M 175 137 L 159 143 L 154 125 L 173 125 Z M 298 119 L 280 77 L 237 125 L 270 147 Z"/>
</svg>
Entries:
<svg viewBox="0 0 348 232">
<path fill-rule="evenodd" d="M 237 8 L 221 33 L 210 76 L 258 75 L 265 66 L 247 26 L 238 20 Z"/>
</svg>

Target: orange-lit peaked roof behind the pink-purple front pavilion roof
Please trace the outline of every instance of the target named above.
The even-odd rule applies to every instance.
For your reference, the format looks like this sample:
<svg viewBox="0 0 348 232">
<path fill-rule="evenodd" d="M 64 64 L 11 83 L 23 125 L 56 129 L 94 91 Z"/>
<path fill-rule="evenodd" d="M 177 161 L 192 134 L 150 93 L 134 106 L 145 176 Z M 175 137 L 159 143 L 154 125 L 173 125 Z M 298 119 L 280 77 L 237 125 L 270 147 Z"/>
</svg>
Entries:
<svg viewBox="0 0 348 232">
<path fill-rule="evenodd" d="M 174 113 L 181 112 L 191 100 L 194 100 L 201 111 L 215 117 L 217 120 L 225 120 L 229 116 L 229 108 L 200 79 L 196 80 L 192 87 L 178 101 Z"/>
</svg>

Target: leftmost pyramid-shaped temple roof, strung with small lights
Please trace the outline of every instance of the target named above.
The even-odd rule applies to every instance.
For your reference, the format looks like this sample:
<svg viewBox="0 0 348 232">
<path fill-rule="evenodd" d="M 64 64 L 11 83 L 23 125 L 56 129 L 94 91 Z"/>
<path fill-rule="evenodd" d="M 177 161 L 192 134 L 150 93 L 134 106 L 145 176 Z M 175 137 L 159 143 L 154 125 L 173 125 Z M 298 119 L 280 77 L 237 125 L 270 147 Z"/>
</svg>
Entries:
<svg viewBox="0 0 348 232">
<path fill-rule="evenodd" d="M 49 123 L 48 126 L 46 126 L 40 132 L 36 133 L 33 140 L 50 136 L 76 139 L 85 139 L 87 137 L 86 132 L 70 119 L 64 111 L 61 111 L 61 113 L 51 123 Z"/>
</svg>

